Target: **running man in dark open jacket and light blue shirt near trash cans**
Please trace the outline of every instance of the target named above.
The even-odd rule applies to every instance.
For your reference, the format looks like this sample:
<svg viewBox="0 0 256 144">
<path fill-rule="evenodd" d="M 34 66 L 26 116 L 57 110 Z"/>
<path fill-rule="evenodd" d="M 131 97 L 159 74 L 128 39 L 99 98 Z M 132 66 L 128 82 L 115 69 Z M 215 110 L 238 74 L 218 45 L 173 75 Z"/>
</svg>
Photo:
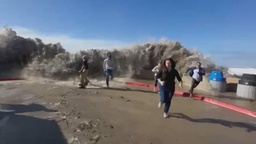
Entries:
<svg viewBox="0 0 256 144">
<path fill-rule="evenodd" d="M 201 62 L 197 62 L 196 67 L 188 68 L 188 70 L 183 75 L 185 75 L 188 71 L 190 71 L 189 76 L 192 77 L 191 86 L 189 90 L 189 97 L 192 97 L 194 88 L 196 88 L 198 84 L 203 81 L 205 70 L 201 67 Z"/>
</svg>

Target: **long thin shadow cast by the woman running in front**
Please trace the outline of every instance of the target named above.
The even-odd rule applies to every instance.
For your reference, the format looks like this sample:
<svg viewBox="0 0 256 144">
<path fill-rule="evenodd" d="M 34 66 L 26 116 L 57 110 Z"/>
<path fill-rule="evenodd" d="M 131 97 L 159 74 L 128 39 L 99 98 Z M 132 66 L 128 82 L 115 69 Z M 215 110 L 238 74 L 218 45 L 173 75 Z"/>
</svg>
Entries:
<svg viewBox="0 0 256 144">
<path fill-rule="evenodd" d="M 244 123 L 244 122 L 233 122 L 233 121 L 228 121 L 223 119 L 212 119 L 212 118 L 193 119 L 183 113 L 171 113 L 171 115 L 169 116 L 178 118 L 178 119 L 186 119 L 190 122 L 195 122 L 195 123 L 213 123 L 213 124 L 220 124 L 222 126 L 227 126 L 230 128 L 232 127 L 246 128 L 246 131 L 249 133 L 252 131 L 256 131 L 255 126 L 250 125 L 248 123 Z"/>
</svg>

